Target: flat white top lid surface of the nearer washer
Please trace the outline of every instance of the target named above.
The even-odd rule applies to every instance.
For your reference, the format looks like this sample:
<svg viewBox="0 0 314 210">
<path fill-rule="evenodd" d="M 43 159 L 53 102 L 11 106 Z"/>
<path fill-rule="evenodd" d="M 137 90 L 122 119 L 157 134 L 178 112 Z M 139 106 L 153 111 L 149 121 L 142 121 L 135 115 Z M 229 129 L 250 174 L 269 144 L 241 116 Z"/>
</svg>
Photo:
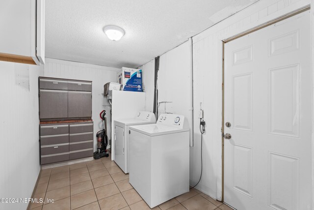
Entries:
<svg viewBox="0 0 314 210">
<path fill-rule="evenodd" d="M 140 133 L 146 134 L 148 136 L 159 136 L 159 135 L 166 135 L 170 133 L 179 133 L 184 131 L 189 131 L 189 128 L 176 128 L 170 127 L 160 124 L 146 124 L 146 125 L 135 125 L 130 126 L 130 130 L 135 130 Z"/>
</svg>

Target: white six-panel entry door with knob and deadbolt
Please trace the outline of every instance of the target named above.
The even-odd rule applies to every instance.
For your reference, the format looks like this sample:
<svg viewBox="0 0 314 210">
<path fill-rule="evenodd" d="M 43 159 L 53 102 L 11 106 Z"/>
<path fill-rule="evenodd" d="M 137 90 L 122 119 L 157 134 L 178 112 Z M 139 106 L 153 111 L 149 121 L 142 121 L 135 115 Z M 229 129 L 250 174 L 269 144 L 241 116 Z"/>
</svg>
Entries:
<svg viewBox="0 0 314 210">
<path fill-rule="evenodd" d="M 309 11 L 230 41 L 224 52 L 224 202 L 312 210 Z"/>
</svg>

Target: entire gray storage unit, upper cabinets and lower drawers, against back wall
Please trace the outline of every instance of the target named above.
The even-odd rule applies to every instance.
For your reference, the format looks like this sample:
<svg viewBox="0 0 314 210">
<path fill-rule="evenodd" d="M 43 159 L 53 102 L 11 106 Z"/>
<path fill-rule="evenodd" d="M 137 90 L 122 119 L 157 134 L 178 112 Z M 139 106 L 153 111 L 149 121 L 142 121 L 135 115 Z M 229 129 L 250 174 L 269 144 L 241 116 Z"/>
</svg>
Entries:
<svg viewBox="0 0 314 210">
<path fill-rule="evenodd" d="M 91 117 L 92 82 L 39 77 L 41 164 L 93 156 Z"/>
</svg>

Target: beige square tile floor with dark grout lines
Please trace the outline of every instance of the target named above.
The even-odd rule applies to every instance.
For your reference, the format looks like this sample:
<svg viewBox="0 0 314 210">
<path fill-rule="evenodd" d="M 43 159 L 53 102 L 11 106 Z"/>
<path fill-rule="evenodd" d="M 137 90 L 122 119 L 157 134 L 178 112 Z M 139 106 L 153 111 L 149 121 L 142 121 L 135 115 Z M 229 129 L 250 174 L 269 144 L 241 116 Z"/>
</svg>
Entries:
<svg viewBox="0 0 314 210">
<path fill-rule="evenodd" d="M 129 183 L 129 175 L 103 157 L 41 170 L 33 198 L 54 203 L 32 203 L 32 210 L 149 210 Z M 173 198 L 155 210 L 231 210 L 197 189 Z"/>
</svg>

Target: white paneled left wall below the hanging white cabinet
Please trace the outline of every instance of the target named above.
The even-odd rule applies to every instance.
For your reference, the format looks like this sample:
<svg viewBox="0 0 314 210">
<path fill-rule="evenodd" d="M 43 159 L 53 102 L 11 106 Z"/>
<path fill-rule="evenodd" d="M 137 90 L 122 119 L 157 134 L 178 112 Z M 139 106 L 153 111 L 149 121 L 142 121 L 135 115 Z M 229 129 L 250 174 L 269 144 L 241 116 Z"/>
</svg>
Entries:
<svg viewBox="0 0 314 210">
<path fill-rule="evenodd" d="M 0 61 L 0 198 L 30 198 L 39 171 L 38 76 L 43 66 Z M 26 209 L 27 203 L 0 204 Z"/>
</svg>

